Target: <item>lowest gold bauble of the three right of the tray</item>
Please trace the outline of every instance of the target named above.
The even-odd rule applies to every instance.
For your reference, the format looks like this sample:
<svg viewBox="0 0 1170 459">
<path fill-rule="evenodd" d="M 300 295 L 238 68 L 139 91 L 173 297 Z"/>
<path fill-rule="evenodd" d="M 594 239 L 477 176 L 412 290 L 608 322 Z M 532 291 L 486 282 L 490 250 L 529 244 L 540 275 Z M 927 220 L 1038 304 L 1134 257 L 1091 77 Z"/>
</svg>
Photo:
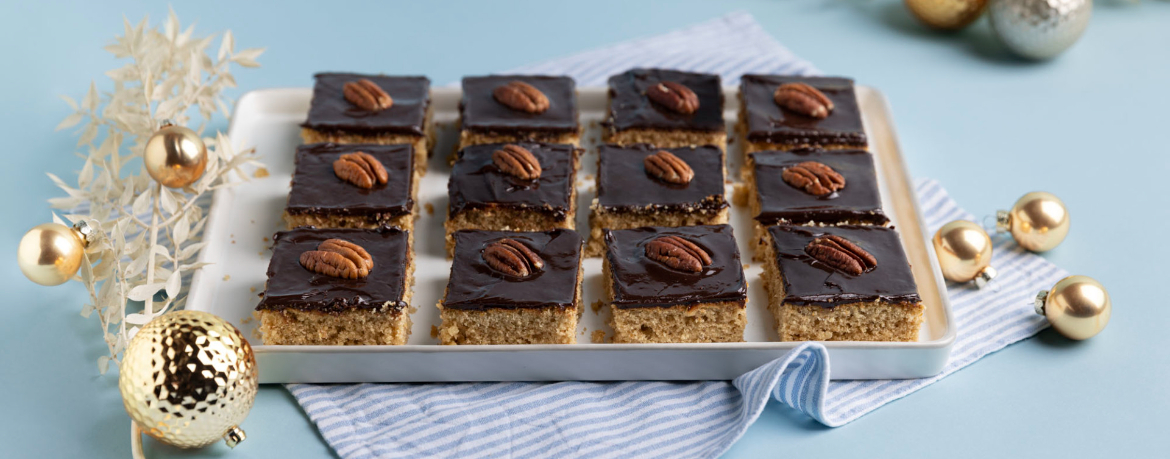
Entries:
<svg viewBox="0 0 1170 459">
<path fill-rule="evenodd" d="M 1087 340 L 1109 324 L 1109 292 L 1093 278 L 1071 275 L 1035 296 L 1035 311 L 1069 340 Z"/>
</svg>

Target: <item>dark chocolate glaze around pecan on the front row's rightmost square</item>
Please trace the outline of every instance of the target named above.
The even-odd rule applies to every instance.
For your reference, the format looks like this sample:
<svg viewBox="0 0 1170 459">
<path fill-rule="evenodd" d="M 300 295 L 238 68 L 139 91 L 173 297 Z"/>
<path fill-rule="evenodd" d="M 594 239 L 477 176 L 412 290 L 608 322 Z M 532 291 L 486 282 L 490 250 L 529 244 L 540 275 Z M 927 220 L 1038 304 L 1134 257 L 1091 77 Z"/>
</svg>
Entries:
<svg viewBox="0 0 1170 459">
<path fill-rule="evenodd" d="M 897 232 L 880 226 L 806 227 L 779 225 L 768 228 L 776 262 L 784 280 L 784 302 L 799 306 L 837 306 L 882 301 L 922 301 L 914 273 Z M 869 272 L 851 275 L 805 253 L 813 239 L 835 234 L 856 244 L 878 260 Z"/>
</svg>

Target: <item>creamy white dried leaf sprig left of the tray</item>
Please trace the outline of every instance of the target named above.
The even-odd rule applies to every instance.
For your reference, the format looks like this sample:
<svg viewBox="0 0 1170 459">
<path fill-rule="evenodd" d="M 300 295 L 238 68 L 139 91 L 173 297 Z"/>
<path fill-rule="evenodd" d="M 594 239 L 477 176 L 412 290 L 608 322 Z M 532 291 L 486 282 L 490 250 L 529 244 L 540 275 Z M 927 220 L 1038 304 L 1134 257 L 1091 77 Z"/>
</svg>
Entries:
<svg viewBox="0 0 1170 459">
<path fill-rule="evenodd" d="M 84 220 L 96 230 L 77 280 L 89 290 L 81 314 L 96 313 L 109 348 L 109 355 L 97 361 L 102 374 L 111 363 L 117 365 L 139 327 L 185 303 L 184 280 L 204 265 L 197 258 L 205 245 L 200 239 L 207 222 L 206 197 L 236 181 L 233 172 L 247 180 L 241 167 L 260 166 L 252 149 L 238 151 L 227 135 L 216 131 L 204 138 L 206 172 L 187 187 L 163 187 L 140 165 L 136 173 L 124 173 L 164 119 L 202 132 L 215 114 L 230 116 L 232 101 L 222 95 L 235 87 L 229 67 L 259 67 L 256 59 L 263 53 L 261 48 L 236 52 L 232 32 L 197 37 L 194 26 L 183 29 L 173 11 L 161 30 L 146 23 L 146 19 L 137 25 L 124 21 L 123 35 L 105 46 L 115 57 L 129 61 L 105 73 L 112 80 L 111 91 L 98 91 L 90 82 L 81 101 L 62 96 L 74 112 L 57 129 L 77 129 L 78 156 L 85 163 L 76 186 L 49 174 L 66 192 L 49 199 L 50 205 L 66 210 L 66 220 Z M 213 56 L 208 52 L 216 37 Z M 143 302 L 142 310 L 128 311 L 131 301 Z"/>
</svg>

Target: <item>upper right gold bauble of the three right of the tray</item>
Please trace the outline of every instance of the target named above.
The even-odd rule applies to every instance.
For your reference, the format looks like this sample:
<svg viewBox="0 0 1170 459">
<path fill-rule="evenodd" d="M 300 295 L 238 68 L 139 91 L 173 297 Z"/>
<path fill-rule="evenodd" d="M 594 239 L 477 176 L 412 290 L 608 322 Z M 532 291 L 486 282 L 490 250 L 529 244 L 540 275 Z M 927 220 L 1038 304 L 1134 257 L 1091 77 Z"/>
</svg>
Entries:
<svg viewBox="0 0 1170 459">
<path fill-rule="evenodd" d="M 1068 235 L 1068 207 L 1052 193 L 1024 194 L 1010 211 L 996 213 L 996 228 L 1012 233 L 1016 242 L 1032 252 L 1055 248 Z"/>
</svg>

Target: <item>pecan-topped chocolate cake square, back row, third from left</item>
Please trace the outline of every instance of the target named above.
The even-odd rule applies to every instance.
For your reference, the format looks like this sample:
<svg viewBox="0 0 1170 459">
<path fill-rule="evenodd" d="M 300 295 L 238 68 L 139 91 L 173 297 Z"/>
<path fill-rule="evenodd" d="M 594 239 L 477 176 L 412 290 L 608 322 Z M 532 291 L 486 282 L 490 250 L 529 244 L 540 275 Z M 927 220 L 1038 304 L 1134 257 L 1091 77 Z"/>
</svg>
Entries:
<svg viewBox="0 0 1170 459">
<path fill-rule="evenodd" d="M 606 143 L 727 149 L 718 75 L 632 69 L 610 77 L 608 111 Z"/>
</svg>

